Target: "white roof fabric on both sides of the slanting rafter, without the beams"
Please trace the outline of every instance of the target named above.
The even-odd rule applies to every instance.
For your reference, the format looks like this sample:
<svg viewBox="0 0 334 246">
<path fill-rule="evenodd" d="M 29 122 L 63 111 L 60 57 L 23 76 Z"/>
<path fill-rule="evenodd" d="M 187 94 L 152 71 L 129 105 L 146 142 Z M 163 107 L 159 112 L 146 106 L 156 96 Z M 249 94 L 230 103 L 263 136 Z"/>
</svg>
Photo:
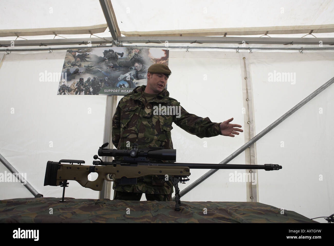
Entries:
<svg viewBox="0 0 334 246">
<path fill-rule="evenodd" d="M 263 26 L 326 25 L 334 23 L 334 1 L 168 1 L 111 0 L 121 32 L 180 29 L 243 28 Z M 240 12 L 241 9 L 241 12 Z M 10 21 L 8 21 L 10 20 Z M 24 20 L 24 21 L 22 21 Z M 0 9 L 0 29 L 77 27 L 106 24 L 99 0 L 37 0 L 26 4 L 13 0 Z M 59 33 L 57 33 L 59 34 Z M 265 34 L 265 33 L 263 33 Z M 270 35 L 270 33 L 269 33 Z M 89 34 L 62 35 L 90 37 Z M 109 28 L 98 36 L 110 37 Z M 259 35 L 255 35 L 259 36 Z M 272 34 L 280 37 L 281 34 Z M 301 37 L 300 34 L 284 34 Z M 333 33 L 317 33 L 317 37 L 333 37 Z M 53 38 L 23 36 L 27 39 Z M 8 40 L 14 37 L 0 37 Z M 62 37 L 55 37 L 62 38 Z"/>
</svg>

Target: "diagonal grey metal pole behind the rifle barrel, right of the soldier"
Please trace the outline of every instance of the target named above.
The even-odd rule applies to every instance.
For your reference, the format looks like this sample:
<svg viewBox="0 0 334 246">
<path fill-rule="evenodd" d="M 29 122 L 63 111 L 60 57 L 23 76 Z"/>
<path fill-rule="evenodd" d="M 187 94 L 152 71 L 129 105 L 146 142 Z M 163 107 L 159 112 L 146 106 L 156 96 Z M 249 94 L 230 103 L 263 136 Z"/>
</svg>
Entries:
<svg viewBox="0 0 334 246">
<path fill-rule="evenodd" d="M 252 144 L 254 144 L 256 141 L 258 141 L 263 136 L 265 136 L 268 132 L 270 132 L 273 128 L 275 128 L 283 120 L 285 120 L 291 114 L 293 114 L 294 112 L 296 112 L 304 104 L 306 104 L 307 102 L 309 102 L 313 97 L 315 97 L 320 92 L 322 92 L 324 89 L 326 89 L 328 86 L 330 86 L 331 84 L 333 84 L 333 82 L 334 82 L 334 77 L 331 78 L 330 80 L 328 80 L 322 86 L 320 86 L 314 92 L 312 92 L 309 96 L 307 96 L 304 100 L 302 100 L 297 105 L 295 105 L 293 108 L 291 108 L 288 112 L 286 112 L 285 114 L 283 114 L 280 118 L 278 118 L 277 120 L 275 120 L 270 126 L 268 126 L 261 133 L 259 133 L 258 135 L 256 135 L 254 138 L 252 138 L 250 141 L 248 141 L 244 145 L 242 145 L 239 149 L 237 149 L 236 151 L 234 151 L 231 155 L 229 155 L 228 157 L 226 157 L 223 161 L 219 162 L 219 164 L 226 164 L 226 163 L 230 162 L 232 159 L 234 159 L 234 157 L 236 157 L 237 155 L 239 155 L 241 152 L 243 152 L 249 146 L 251 146 Z M 206 172 L 204 175 L 202 175 L 200 178 L 198 178 L 195 182 L 191 183 L 188 187 L 186 187 L 184 190 L 182 190 L 180 192 L 180 195 L 183 196 L 183 195 L 187 194 L 190 190 L 192 190 L 193 188 L 195 188 L 197 185 L 199 185 L 200 183 L 202 183 L 205 179 L 207 179 L 208 177 L 210 177 L 212 174 L 214 174 L 218 170 L 219 169 L 211 169 L 210 171 Z M 172 200 L 175 200 L 175 196 L 172 198 Z"/>
</svg>

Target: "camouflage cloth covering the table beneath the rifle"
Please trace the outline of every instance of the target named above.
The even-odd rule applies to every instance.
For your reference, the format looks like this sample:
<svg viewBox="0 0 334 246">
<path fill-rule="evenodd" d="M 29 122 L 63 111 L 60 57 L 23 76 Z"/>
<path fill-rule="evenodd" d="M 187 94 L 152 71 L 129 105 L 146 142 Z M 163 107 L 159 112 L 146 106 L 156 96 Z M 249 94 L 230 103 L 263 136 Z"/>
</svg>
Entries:
<svg viewBox="0 0 334 246">
<path fill-rule="evenodd" d="M 1 223 L 317 223 L 259 202 L 123 201 L 54 197 L 0 200 Z M 52 208 L 52 210 L 50 210 Z M 207 214 L 204 214 L 204 208 Z M 53 214 L 50 214 L 50 211 Z M 130 214 L 129 214 L 130 213 Z"/>
</svg>

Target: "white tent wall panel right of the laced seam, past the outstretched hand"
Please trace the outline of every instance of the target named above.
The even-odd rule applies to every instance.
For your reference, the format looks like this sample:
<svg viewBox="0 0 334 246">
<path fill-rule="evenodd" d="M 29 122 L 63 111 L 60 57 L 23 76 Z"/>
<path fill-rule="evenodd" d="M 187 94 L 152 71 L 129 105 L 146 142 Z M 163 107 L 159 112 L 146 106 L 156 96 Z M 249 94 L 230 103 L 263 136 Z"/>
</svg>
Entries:
<svg viewBox="0 0 334 246">
<path fill-rule="evenodd" d="M 334 75 L 334 53 L 254 52 L 250 58 L 255 134 Z M 282 73 L 292 73 L 294 81 L 277 81 Z M 308 218 L 333 214 L 333 93 L 331 85 L 257 141 L 258 164 L 283 166 L 259 173 L 259 202 Z"/>
</svg>

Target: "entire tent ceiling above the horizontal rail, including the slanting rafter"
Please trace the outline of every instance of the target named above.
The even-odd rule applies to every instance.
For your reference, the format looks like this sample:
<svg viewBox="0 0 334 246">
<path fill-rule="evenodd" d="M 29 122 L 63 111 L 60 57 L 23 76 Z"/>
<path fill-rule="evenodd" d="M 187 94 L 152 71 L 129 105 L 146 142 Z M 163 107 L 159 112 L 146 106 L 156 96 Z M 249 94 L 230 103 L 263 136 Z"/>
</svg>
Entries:
<svg viewBox="0 0 334 246">
<path fill-rule="evenodd" d="M 18 7 L 22 4 L 25 4 L 24 8 Z M 65 0 L 56 3 L 39 0 L 29 2 L 29 5 L 24 0 L 13 0 L 0 9 L 0 40 L 4 44 L 3 40 L 20 36 L 33 41 L 22 40 L 20 46 L 24 46 L 25 43 L 40 44 L 45 39 L 60 40 L 61 36 L 55 37 L 55 34 L 68 39 L 84 39 L 93 33 L 123 42 L 127 39 L 122 36 L 138 37 L 143 42 L 141 36 L 155 37 L 156 40 L 167 36 L 268 34 L 271 37 L 301 37 L 294 35 L 297 33 L 321 33 L 317 37 L 323 39 L 333 37 L 333 12 L 333 0 L 171 0 L 168 5 L 153 0 L 146 0 L 145 4 L 134 0 L 82 0 L 80 6 Z M 8 19 L 11 21 L 6 21 Z M 169 38 L 169 42 L 173 41 Z M 228 43 L 228 39 L 223 41 L 218 43 Z M 70 40 L 61 42 L 72 43 Z M 259 42 L 262 41 L 259 39 Z"/>
</svg>

